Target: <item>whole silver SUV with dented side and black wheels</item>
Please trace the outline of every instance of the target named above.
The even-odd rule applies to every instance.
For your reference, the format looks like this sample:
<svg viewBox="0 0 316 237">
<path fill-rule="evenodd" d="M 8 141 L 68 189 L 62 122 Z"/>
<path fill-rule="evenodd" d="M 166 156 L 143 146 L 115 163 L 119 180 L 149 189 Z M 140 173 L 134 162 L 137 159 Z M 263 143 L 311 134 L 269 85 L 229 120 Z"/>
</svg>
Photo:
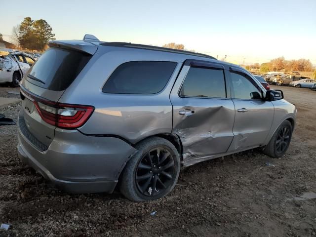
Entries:
<svg viewBox="0 0 316 237">
<path fill-rule="evenodd" d="M 18 154 L 65 191 L 156 199 L 181 167 L 290 144 L 295 106 L 237 65 L 93 36 L 49 46 L 21 81 Z"/>
</svg>

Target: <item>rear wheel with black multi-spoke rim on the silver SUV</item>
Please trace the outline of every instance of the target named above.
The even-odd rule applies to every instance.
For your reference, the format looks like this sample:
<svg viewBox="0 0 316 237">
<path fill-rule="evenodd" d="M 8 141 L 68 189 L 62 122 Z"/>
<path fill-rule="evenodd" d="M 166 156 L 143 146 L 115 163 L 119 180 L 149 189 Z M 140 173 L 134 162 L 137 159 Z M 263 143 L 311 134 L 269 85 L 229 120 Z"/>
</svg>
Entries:
<svg viewBox="0 0 316 237">
<path fill-rule="evenodd" d="M 160 137 L 148 138 L 136 145 L 136 149 L 138 152 L 127 162 L 120 176 L 121 194 L 137 202 L 168 195 L 180 173 L 177 149 Z M 167 166 L 170 167 L 165 168 Z"/>
</svg>

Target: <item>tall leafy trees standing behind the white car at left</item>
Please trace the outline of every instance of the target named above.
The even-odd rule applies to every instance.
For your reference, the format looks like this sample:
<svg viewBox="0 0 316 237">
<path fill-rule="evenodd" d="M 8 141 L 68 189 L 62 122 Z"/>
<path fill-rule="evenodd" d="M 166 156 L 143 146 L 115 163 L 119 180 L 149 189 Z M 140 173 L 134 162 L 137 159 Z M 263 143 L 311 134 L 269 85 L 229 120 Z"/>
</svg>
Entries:
<svg viewBox="0 0 316 237">
<path fill-rule="evenodd" d="M 22 48 L 43 50 L 49 40 L 55 40 L 51 26 L 43 19 L 32 20 L 25 17 L 17 26 L 13 27 L 13 40 Z"/>
</svg>

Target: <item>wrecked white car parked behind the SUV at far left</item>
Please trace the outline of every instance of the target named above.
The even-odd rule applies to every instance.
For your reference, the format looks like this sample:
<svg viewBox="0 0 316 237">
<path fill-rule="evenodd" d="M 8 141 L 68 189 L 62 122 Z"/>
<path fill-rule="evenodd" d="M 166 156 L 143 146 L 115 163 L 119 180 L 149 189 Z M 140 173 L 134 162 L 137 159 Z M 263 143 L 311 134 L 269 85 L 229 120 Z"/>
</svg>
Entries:
<svg viewBox="0 0 316 237">
<path fill-rule="evenodd" d="M 10 52 L 0 58 L 0 83 L 9 82 L 11 86 L 19 86 L 20 80 L 29 71 L 36 59 L 23 52 Z"/>
</svg>

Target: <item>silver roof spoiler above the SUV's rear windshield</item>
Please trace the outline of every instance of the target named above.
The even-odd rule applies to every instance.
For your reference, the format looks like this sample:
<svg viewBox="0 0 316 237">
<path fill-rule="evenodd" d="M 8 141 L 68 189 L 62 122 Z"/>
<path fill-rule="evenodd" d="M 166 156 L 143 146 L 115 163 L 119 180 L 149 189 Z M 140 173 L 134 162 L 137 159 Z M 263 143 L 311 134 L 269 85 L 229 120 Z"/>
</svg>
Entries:
<svg viewBox="0 0 316 237">
<path fill-rule="evenodd" d="M 76 50 L 91 55 L 98 49 L 97 45 L 82 40 L 53 40 L 48 42 L 48 46 Z"/>
</svg>

